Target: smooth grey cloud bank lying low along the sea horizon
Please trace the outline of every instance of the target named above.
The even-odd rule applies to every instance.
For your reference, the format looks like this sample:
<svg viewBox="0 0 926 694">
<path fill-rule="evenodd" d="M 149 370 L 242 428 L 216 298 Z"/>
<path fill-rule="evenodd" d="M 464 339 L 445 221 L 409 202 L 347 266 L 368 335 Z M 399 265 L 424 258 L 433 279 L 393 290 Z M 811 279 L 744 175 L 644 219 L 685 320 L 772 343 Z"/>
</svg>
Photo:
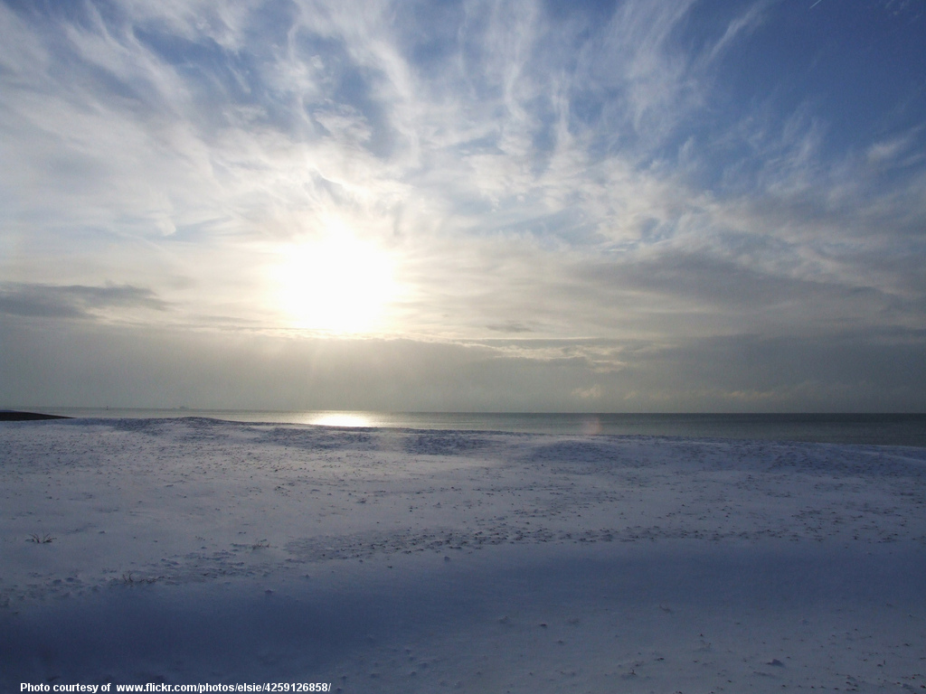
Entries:
<svg viewBox="0 0 926 694">
<path fill-rule="evenodd" d="M 0 319 L 8 404 L 494 412 L 921 411 L 922 330 L 462 345 Z M 548 358 L 558 352 L 558 358 Z M 620 369 L 592 358 L 619 353 Z M 585 397 L 583 397 L 583 394 Z"/>
</svg>

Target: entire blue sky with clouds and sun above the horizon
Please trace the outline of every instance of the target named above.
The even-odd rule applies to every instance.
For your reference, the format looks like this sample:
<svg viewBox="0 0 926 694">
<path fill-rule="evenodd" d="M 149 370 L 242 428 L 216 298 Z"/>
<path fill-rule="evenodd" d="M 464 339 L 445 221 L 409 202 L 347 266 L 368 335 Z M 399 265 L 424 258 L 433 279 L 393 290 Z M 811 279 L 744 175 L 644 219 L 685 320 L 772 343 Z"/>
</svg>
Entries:
<svg viewBox="0 0 926 694">
<path fill-rule="evenodd" d="M 0 406 L 926 412 L 919 0 L 0 0 Z"/>
</svg>

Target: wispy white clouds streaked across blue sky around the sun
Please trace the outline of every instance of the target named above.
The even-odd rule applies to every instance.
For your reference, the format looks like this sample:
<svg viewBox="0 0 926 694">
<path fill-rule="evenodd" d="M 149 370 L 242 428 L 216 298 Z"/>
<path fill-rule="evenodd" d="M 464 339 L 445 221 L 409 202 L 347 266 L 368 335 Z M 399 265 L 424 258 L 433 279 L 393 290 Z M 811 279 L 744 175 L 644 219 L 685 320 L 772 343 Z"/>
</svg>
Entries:
<svg viewBox="0 0 926 694">
<path fill-rule="evenodd" d="M 824 11 L 0 3 L 3 305 L 285 330 L 281 254 L 346 229 L 400 280 L 393 338 L 598 369 L 628 340 L 921 328 L 923 96 L 887 63 L 847 81 L 865 21 Z M 846 12 L 920 65 L 912 9 Z"/>
</svg>

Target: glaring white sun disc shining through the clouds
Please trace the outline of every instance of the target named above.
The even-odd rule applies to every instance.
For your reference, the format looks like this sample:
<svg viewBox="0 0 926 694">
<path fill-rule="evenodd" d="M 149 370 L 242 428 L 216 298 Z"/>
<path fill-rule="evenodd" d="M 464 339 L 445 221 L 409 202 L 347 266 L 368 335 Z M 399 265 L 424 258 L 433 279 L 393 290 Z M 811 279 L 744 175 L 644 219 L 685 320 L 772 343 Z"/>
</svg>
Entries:
<svg viewBox="0 0 926 694">
<path fill-rule="evenodd" d="M 339 229 L 290 245 L 274 270 L 278 304 L 293 328 L 363 333 L 383 328 L 394 298 L 390 254 Z"/>
</svg>

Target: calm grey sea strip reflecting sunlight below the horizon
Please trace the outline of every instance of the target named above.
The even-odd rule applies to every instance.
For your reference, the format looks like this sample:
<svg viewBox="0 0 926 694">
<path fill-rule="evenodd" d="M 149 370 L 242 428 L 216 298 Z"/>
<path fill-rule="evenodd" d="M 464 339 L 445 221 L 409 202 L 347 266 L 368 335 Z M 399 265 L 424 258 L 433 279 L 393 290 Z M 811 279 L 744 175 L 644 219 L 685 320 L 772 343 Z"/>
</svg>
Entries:
<svg viewBox="0 0 926 694">
<path fill-rule="evenodd" d="M 45 408 L 79 417 L 206 416 L 239 422 L 332 427 L 469 429 L 547 434 L 622 434 L 792 440 L 926 447 L 926 415 L 576 415 L 508 413 L 272 412 Z"/>
</svg>

